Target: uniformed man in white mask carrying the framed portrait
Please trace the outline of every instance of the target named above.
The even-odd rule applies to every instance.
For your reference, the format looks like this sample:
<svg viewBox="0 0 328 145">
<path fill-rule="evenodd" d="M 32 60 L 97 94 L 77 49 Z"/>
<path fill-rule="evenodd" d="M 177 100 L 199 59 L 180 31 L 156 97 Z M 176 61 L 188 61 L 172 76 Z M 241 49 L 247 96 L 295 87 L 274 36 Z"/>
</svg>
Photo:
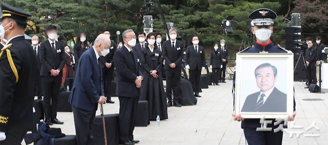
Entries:
<svg viewBox="0 0 328 145">
<path fill-rule="evenodd" d="M 256 36 L 256 43 L 254 47 L 243 50 L 241 53 L 287 53 L 287 50 L 274 45 L 270 36 L 273 32 L 274 19 L 277 14 L 267 8 L 260 8 L 254 10 L 248 18 L 252 19 L 252 32 Z M 237 70 L 238 71 L 238 70 Z M 235 79 L 235 78 L 234 78 Z M 233 87 L 235 86 L 235 80 Z M 234 88 L 233 88 L 234 89 Z M 233 94 L 234 95 L 234 94 Z M 293 121 L 296 115 L 295 100 L 294 100 L 294 113 L 288 117 L 289 121 Z M 244 129 L 244 135 L 248 145 L 281 145 L 283 140 L 283 132 L 279 131 L 256 131 L 256 128 L 261 128 L 260 119 L 244 119 L 241 115 L 232 113 L 233 119 L 241 122 L 241 128 Z M 274 119 L 272 121 L 274 123 Z M 282 122 L 281 124 L 284 124 Z M 267 128 L 276 129 L 279 125 L 274 126 L 268 124 Z"/>
</svg>

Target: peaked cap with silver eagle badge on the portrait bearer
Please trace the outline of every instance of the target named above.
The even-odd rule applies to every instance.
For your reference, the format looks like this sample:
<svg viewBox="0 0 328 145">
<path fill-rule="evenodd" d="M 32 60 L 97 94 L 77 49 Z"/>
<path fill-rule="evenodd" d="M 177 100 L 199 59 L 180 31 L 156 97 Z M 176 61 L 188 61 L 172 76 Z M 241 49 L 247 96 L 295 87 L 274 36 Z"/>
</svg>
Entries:
<svg viewBox="0 0 328 145">
<path fill-rule="evenodd" d="M 271 9 L 259 8 L 251 12 L 248 18 L 252 20 L 252 26 L 273 25 L 273 20 L 277 18 L 277 14 Z"/>
</svg>

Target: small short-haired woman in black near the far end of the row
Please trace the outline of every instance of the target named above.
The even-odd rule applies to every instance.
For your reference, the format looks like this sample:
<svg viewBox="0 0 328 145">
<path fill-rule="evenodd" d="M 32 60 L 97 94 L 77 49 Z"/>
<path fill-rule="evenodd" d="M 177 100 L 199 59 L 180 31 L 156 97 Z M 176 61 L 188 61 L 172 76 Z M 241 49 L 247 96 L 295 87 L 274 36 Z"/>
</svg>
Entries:
<svg viewBox="0 0 328 145">
<path fill-rule="evenodd" d="M 212 83 L 213 85 L 219 85 L 219 74 L 221 74 L 221 54 L 218 50 L 219 44 L 214 43 L 214 49 L 210 54 L 209 68 L 212 69 Z"/>
</svg>

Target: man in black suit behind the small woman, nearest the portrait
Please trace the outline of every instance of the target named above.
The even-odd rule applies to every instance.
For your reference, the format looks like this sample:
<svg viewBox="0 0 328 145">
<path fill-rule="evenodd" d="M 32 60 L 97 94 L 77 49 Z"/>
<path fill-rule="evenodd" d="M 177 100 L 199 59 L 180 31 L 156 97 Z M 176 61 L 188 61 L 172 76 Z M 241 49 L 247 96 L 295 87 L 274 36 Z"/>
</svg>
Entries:
<svg viewBox="0 0 328 145">
<path fill-rule="evenodd" d="M 221 47 L 219 48 L 219 52 L 221 53 L 221 62 L 222 62 L 222 68 L 221 68 L 221 74 L 219 74 L 219 82 L 226 83 L 225 82 L 225 70 L 227 68 L 228 63 L 228 48 L 225 46 L 225 40 L 220 41 Z"/>
</svg>

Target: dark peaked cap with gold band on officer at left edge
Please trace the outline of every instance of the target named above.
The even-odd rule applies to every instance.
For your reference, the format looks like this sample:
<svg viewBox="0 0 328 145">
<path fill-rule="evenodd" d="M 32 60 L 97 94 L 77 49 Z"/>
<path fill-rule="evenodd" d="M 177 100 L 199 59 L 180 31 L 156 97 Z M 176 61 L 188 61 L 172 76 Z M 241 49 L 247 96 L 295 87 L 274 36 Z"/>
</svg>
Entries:
<svg viewBox="0 0 328 145">
<path fill-rule="evenodd" d="M 19 8 L 13 7 L 6 3 L 1 4 L 1 12 L 2 12 L 0 17 L 1 19 L 3 17 L 10 17 L 21 21 L 26 21 L 28 16 L 32 16 L 28 12 L 25 12 Z"/>
</svg>

